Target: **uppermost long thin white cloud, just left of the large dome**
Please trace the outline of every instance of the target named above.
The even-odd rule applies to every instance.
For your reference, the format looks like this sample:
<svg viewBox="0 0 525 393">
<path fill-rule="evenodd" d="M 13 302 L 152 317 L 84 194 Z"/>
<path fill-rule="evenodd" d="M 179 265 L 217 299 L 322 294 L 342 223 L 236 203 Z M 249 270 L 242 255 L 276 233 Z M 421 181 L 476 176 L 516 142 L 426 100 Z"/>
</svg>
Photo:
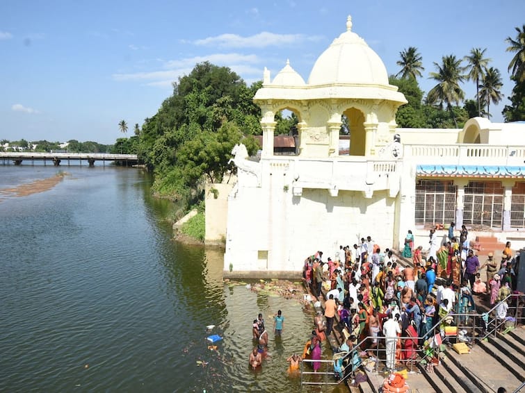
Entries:
<svg viewBox="0 0 525 393">
<path fill-rule="evenodd" d="M 221 34 L 215 37 L 206 37 L 193 42 L 195 45 L 216 45 L 229 48 L 264 48 L 270 46 L 282 46 L 297 44 L 298 42 L 318 40 L 319 37 L 307 37 L 304 34 L 275 34 L 263 31 L 249 37 L 241 37 L 237 34 Z"/>
</svg>

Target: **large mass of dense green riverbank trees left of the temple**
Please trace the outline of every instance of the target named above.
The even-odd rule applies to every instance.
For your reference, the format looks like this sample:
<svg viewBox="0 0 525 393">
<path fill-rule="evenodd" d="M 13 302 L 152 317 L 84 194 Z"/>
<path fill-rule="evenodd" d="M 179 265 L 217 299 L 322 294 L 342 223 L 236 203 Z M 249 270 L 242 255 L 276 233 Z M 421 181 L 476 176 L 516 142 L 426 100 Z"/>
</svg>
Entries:
<svg viewBox="0 0 525 393">
<path fill-rule="evenodd" d="M 137 154 L 155 174 L 154 190 L 172 199 L 200 195 L 202 181 L 222 181 L 234 144 L 250 153 L 260 135 L 261 110 L 253 97 L 262 83 L 250 87 L 227 67 L 195 65 L 173 83 L 173 94 L 140 129 Z"/>
</svg>

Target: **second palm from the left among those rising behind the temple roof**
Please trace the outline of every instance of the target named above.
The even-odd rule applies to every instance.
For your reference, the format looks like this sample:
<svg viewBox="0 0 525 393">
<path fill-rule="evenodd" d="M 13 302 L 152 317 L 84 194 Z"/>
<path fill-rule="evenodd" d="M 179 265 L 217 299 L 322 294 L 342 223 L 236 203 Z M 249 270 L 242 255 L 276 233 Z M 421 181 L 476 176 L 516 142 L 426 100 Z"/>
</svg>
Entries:
<svg viewBox="0 0 525 393">
<path fill-rule="evenodd" d="M 446 108 L 451 112 L 456 128 L 458 128 L 458 123 L 455 121 L 452 103 L 459 105 L 460 101 L 465 98 L 465 92 L 460 87 L 460 83 L 465 80 L 465 76 L 461 74 L 461 62 L 462 60 L 455 58 L 454 55 L 443 56 L 441 65 L 434 62 L 437 72 L 430 72 L 430 78 L 435 79 L 438 83 L 430 89 L 427 97 L 428 102 L 438 103 L 440 109 L 443 109 L 443 103 L 446 103 Z"/>
</svg>

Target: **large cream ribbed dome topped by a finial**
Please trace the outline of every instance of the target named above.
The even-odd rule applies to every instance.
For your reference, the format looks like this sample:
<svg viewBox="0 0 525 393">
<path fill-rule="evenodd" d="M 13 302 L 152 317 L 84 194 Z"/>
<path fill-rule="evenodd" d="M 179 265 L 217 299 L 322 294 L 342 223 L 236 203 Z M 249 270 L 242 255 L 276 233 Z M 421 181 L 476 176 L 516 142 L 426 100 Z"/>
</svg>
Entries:
<svg viewBox="0 0 525 393">
<path fill-rule="evenodd" d="M 317 59 L 309 85 L 332 84 L 389 85 L 382 60 L 366 42 L 352 31 L 352 18 L 346 22 L 346 31 Z"/>
</svg>

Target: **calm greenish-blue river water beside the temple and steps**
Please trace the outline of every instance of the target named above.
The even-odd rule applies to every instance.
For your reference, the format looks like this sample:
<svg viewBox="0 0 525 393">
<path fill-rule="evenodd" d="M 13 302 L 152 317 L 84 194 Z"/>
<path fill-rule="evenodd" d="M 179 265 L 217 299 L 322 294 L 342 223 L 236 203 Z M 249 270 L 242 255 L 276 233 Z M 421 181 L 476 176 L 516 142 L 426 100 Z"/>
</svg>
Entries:
<svg viewBox="0 0 525 393">
<path fill-rule="evenodd" d="M 45 192 L 0 192 L 0 392 L 300 390 L 286 357 L 309 310 L 223 283 L 222 252 L 172 240 L 172 204 L 140 169 L 0 165 L 0 190 L 59 172 Z M 278 309 L 282 340 L 270 332 L 270 358 L 250 371 L 252 320 L 271 327 Z"/>
</svg>

